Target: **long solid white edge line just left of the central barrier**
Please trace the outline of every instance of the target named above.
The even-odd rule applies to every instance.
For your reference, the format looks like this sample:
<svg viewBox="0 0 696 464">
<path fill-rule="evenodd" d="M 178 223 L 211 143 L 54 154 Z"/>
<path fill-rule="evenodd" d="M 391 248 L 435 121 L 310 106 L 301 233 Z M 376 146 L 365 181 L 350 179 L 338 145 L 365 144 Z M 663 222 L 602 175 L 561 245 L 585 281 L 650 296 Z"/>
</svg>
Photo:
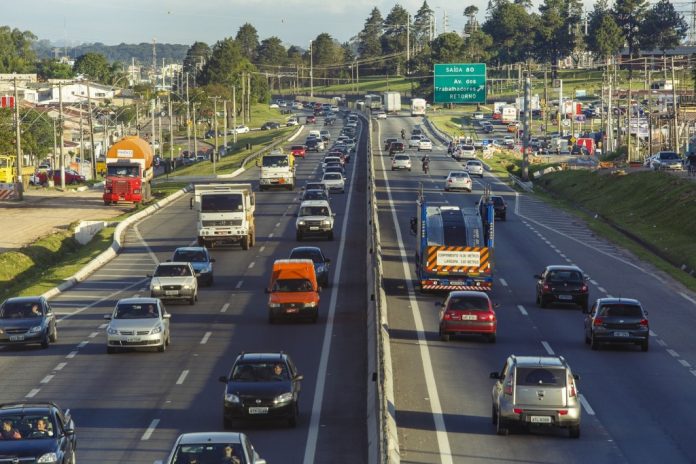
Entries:
<svg viewBox="0 0 696 464">
<path fill-rule="evenodd" d="M 355 171 L 358 163 L 353 165 L 350 174 L 351 179 L 355 179 Z M 341 281 L 341 268 L 343 266 L 343 252 L 346 248 L 346 233 L 348 229 L 348 218 L 350 217 L 350 207 L 353 203 L 353 186 L 355 182 L 348 184 L 348 198 L 346 199 L 346 209 L 343 214 L 343 224 L 341 225 L 341 241 L 338 246 L 338 255 L 336 258 L 336 271 L 333 275 L 331 285 L 331 298 L 329 300 L 329 311 L 326 314 L 326 324 L 324 326 L 324 335 L 321 343 L 321 358 L 319 358 L 319 366 L 317 369 L 317 381 L 314 385 L 314 401 L 312 402 L 312 417 L 309 421 L 309 430 L 307 432 L 307 441 L 305 442 L 303 464 L 314 464 L 315 454 L 317 451 L 317 439 L 319 437 L 319 420 L 321 419 L 321 407 L 324 401 L 324 389 L 326 388 L 327 366 L 329 364 L 329 354 L 331 353 L 331 340 L 334 326 L 334 314 L 336 313 L 336 301 L 338 300 L 338 284 Z"/>
</svg>

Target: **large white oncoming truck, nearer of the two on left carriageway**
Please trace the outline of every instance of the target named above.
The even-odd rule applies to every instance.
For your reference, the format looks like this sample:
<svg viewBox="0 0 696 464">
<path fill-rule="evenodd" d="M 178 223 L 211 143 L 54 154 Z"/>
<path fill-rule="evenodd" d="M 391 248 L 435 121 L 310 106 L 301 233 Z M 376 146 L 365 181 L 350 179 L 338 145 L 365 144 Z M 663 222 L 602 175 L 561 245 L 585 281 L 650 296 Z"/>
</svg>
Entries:
<svg viewBox="0 0 696 464">
<path fill-rule="evenodd" d="M 198 244 L 239 243 L 248 250 L 256 242 L 256 201 L 251 184 L 196 184 L 191 209 L 198 212 Z"/>
</svg>

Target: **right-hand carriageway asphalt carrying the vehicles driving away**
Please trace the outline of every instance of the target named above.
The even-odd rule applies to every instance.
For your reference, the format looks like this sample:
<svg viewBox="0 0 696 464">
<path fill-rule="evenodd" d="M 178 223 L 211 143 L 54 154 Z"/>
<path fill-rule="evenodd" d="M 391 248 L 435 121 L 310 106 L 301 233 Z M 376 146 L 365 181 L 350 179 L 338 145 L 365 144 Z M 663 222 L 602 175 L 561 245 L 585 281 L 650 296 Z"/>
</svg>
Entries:
<svg viewBox="0 0 696 464">
<path fill-rule="evenodd" d="M 694 295 L 596 237 L 582 221 L 511 191 L 488 173 L 474 180 L 472 193 L 444 193 L 444 177 L 461 164 L 447 157 L 442 143 L 434 144 L 428 175 L 421 172 L 418 155 L 412 172 L 390 171 L 389 156 L 379 156 L 382 141 L 418 122 L 410 117 L 376 122 L 372 141 L 402 462 L 696 461 L 691 435 L 696 416 L 690 406 L 696 398 Z M 477 337 L 441 342 L 434 303 L 444 295 L 413 288 L 415 237 L 409 218 L 416 215 L 420 184 L 431 201 L 472 206 L 490 185 L 508 202 L 507 221 L 495 228 L 496 344 Z M 652 331 L 649 352 L 633 346 L 591 351 L 583 342 L 579 308 L 535 305 L 533 275 L 548 264 L 564 263 L 589 274 L 591 300 L 611 295 L 643 303 Z M 513 353 L 563 355 L 580 376 L 578 440 L 555 430 L 495 434 L 489 373 L 499 371 Z"/>
</svg>

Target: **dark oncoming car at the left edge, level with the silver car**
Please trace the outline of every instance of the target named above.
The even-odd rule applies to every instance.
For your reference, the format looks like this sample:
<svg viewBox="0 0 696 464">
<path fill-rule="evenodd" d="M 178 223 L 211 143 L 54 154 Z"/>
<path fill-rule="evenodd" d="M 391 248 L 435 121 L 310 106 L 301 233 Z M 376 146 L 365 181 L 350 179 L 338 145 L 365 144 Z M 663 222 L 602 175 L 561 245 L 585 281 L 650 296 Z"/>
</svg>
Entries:
<svg viewBox="0 0 696 464">
<path fill-rule="evenodd" d="M 58 340 L 56 316 L 42 296 L 8 298 L 0 306 L 0 345 L 39 344 Z"/>
</svg>

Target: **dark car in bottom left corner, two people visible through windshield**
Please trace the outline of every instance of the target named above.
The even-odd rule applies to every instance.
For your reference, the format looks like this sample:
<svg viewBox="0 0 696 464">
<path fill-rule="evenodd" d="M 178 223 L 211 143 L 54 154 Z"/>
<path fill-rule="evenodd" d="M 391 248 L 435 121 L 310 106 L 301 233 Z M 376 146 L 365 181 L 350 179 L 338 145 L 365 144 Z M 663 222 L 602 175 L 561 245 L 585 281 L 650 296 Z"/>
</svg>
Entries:
<svg viewBox="0 0 696 464">
<path fill-rule="evenodd" d="M 0 462 L 75 464 L 70 410 L 50 402 L 0 404 Z"/>
</svg>

